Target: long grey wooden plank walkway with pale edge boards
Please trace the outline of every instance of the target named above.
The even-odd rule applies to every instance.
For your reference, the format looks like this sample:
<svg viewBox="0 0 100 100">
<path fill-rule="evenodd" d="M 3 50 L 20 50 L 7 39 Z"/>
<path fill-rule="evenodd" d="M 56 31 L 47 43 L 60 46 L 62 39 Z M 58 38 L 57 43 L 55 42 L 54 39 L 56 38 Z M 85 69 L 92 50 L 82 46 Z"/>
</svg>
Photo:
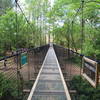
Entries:
<svg viewBox="0 0 100 100">
<path fill-rule="evenodd" d="M 71 100 L 52 46 L 47 52 L 27 100 Z"/>
</svg>

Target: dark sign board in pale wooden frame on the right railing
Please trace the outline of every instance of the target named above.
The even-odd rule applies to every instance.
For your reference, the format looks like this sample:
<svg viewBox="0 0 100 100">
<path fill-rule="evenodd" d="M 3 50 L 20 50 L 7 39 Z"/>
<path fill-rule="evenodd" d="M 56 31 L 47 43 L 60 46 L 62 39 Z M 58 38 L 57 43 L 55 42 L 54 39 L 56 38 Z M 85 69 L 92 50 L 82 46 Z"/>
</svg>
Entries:
<svg viewBox="0 0 100 100">
<path fill-rule="evenodd" d="M 98 63 L 87 57 L 83 57 L 83 77 L 89 81 L 89 83 L 96 87 L 99 83 L 99 68 Z"/>
</svg>

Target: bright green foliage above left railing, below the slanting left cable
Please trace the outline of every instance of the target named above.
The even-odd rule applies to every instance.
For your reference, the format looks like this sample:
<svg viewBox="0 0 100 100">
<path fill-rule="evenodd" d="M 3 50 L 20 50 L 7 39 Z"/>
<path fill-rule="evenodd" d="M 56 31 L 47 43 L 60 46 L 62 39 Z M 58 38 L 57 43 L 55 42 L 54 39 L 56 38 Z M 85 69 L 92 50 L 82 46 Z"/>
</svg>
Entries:
<svg viewBox="0 0 100 100">
<path fill-rule="evenodd" d="M 17 14 L 16 22 L 16 12 L 10 9 L 6 10 L 6 13 L 0 16 L 0 55 L 5 55 L 7 51 L 15 51 L 16 48 L 39 45 L 42 36 L 40 38 L 41 30 L 37 30 L 34 22 L 30 22 L 29 25 L 21 13 Z M 43 41 L 41 40 L 41 43 Z"/>
</svg>

